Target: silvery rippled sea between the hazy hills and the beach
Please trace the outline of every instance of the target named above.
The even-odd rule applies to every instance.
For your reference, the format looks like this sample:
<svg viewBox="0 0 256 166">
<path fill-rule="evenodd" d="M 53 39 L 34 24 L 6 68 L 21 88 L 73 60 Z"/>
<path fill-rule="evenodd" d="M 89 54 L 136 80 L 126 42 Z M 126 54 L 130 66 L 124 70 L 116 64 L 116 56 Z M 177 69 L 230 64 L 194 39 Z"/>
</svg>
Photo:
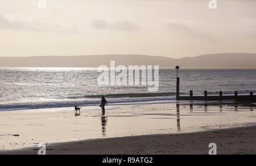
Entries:
<svg viewBox="0 0 256 166">
<path fill-rule="evenodd" d="M 175 99 L 175 69 L 159 70 L 159 91 L 152 97 L 145 97 L 147 86 L 100 86 L 98 75 L 96 68 L 0 68 L 0 111 L 97 105 L 101 95 L 110 103 Z M 181 69 L 179 77 L 183 95 L 256 93 L 256 69 Z"/>
</svg>

